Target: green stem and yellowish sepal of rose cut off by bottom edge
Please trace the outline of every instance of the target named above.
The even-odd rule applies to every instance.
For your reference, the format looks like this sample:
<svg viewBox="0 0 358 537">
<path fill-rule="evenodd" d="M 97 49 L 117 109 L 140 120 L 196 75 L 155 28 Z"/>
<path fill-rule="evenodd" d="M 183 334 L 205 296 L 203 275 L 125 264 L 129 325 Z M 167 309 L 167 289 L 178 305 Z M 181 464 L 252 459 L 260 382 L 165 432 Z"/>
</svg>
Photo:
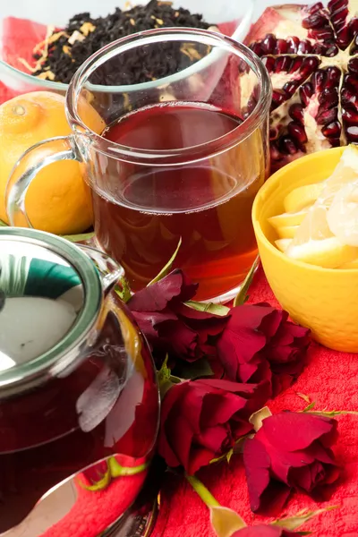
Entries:
<svg viewBox="0 0 358 537">
<path fill-rule="evenodd" d="M 192 485 L 192 489 L 198 494 L 200 499 L 209 508 L 210 522 L 217 533 L 217 537 L 232 537 L 235 532 L 246 527 L 241 516 L 229 509 L 222 507 L 217 499 L 209 492 L 206 486 L 194 475 L 185 474 L 187 482 Z"/>
</svg>

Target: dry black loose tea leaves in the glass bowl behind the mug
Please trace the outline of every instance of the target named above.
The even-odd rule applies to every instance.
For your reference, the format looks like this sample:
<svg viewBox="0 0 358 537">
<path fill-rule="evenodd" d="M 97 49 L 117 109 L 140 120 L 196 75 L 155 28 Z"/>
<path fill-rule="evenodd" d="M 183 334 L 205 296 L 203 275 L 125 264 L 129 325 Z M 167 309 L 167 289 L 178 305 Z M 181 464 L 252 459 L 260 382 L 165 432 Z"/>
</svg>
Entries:
<svg viewBox="0 0 358 537">
<path fill-rule="evenodd" d="M 35 65 L 23 62 L 40 79 L 68 83 L 83 62 L 100 48 L 116 39 L 138 31 L 166 27 L 192 27 L 208 30 L 210 24 L 201 14 L 175 9 L 171 2 L 150 0 L 147 5 L 136 5 L 129 10 L 115 9 L 107 17 L 92 18 L 90 13 L 79 13 L 70 19 L 63 30 L 49 30 L 47 37 L 34 48 Z M 153 81 L 177 71 L 183 62 L 190 66 L 208 54 L 207 47 L 191 49 L 172 43 L 170 54 L 150 56 L 150 67 L 143 67 L 141 58 L 127 56 L 117 64 L 111 75 L 111 84 L 134 84 Z M 108 85 L 104 74 L 98 84 Z"/>
</svg>

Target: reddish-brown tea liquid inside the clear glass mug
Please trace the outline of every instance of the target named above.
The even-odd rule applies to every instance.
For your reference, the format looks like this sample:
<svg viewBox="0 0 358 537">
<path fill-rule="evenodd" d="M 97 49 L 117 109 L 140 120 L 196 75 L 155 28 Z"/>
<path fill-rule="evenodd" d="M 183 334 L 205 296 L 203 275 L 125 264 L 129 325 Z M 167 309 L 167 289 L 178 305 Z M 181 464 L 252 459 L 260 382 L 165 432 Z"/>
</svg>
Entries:
<svg viewBox="0 0 358 537">
<path fill-rule="evenodd" d="M 134 290 L 158 274 L 180 238 L 176 263 L 200 282 L 200 298 L 225 293 L 247 274 L 256 256 L 251 206 L 264 172 L 253 166 L 244 178 L 251 165 L 237 146 L 202 158 L 209 141 L 241 123 L 226 110 L 175 101 L 141 108 L 103 132 L 126 147 L 156 152 L 199 146 L 198 159 L 201 154 L 175 166 L 111 161 L 106 193 L 92 191 L 98 244 L 122 263 Z"/>
</svg>

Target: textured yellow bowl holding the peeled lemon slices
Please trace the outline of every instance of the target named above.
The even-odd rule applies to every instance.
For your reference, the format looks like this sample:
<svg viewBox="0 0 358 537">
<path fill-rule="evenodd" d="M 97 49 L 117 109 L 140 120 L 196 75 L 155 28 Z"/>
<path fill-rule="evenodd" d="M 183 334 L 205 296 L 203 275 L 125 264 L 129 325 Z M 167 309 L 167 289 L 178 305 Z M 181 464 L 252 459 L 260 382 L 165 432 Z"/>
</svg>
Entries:
<svg viewBox="0 0 358 537">
<path fill-rule="evenodd" d="M 286 195 L 298 186 L 328 178 L 345 148 L 299 158 L 272 175 L 258 192 L 252 222 L 268 284 L 291 318 L 311 328 L 328 348 L 358 353 L 358 268 L 320 268 L 288 258 L 268 218 L 285 211 Z"/>
</svg>

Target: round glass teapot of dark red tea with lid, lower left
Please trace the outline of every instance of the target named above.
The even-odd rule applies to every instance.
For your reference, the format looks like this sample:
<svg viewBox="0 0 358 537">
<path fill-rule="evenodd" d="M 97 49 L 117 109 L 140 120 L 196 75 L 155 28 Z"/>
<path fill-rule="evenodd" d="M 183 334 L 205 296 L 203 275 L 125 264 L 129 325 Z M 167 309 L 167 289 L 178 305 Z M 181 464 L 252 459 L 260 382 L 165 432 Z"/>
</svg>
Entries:
<svg viewBox="0 0 358 537">
<path fill-rule="evenodd" d="M 158 387 L 123 268 L 5 227 L 0 268 L 0 535 L 148 535 Z"/>
</svg>

